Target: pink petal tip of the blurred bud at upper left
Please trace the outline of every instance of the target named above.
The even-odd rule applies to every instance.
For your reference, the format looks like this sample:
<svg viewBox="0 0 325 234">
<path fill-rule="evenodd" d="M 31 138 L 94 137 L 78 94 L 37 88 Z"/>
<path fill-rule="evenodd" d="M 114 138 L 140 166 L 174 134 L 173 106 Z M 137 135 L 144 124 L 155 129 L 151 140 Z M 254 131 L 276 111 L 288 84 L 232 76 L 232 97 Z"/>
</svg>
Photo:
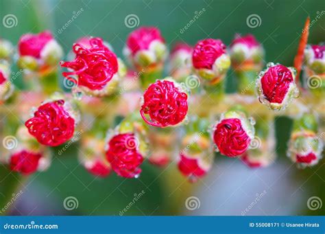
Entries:
<svg viewBox="0 0 325 234">
<path fill-rule="evenodd" d="M 43 31 L 40 34 L 25 34 L 18 42 L 19 54 L 38 59 L 45 45 L 51 40 L 53 40 L 53 36 L 49 31 Z"/>
</svg>

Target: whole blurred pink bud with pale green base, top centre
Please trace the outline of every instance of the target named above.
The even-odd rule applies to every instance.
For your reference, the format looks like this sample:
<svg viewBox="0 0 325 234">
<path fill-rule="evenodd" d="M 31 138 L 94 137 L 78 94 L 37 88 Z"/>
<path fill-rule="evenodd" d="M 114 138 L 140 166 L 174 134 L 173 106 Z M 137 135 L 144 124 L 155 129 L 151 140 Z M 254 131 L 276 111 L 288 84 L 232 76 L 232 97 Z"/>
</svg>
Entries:
<svg viewBox="0 0 325 234">
<path fill-rule="evenodd" d="M 168 51 L 158 28 L 139 27 L 128 36 L 123 53 L 137 70 L 141 70 L 161 69 Z"/>
</svg>

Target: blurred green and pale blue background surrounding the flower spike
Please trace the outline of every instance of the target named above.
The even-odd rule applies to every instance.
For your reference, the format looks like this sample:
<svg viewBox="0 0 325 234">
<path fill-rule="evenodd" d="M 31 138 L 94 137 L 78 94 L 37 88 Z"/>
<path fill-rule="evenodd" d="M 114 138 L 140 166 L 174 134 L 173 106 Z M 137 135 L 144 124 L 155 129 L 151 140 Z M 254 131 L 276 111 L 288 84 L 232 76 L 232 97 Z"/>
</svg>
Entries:
<svg viewBox="0 0 325 234">
<path fill-rule="evenodd" d="M 188 29 L 195 12 L 205 9 Z M 81 10 L 82 9 L 82 10 Z M 82 11 L 66 29 L 62 27 Z M 0 16 L 14 14 L 16 27 L 0 24 L 0 37 L 18 42 L 22 34 L 52 31 L 67 54 L 73 42 L 82 36 L 99 36 L 112 44 L 123 57 L 125 38 L 132 28 L 125 26 L 125 17 L 135 14 L 139 27 L 158 27 L 172 45 L 178 41 L 195 44 L 202 38 L 221 38 L 230 44 L 234 34 L 254 34 L 263 43 L 266 60 L 293 64 L 306 16 L 313 21 L 325 10 L 324 0 L 1 0 Z M 248 27 L 252 14 L 261 18 L 261 25 Z M 60 31 L 61 29 L 61 31 Z M 134 29 L 134 28 L 133 28 Z M 309 43 L 325 41 L 325 15 L 311 26 Z M 13 68 L 14 70 L 16 68 Z M 16 86 L 24 88 L 21 77 Z M 235 79 L 228 76 L 227 90 L 234 92 Z M 77 161 L 78 143 L 62 155 L 53 149 L 53 161 L 46 172 L 37 172 L 27 179 L 9 174 L 0 166 L 0 205 L 5 188 L 19 180 L 22 194 L 10 207 L 12 215 L 117 215 L 128 206 L 134 194 L 143 196 L 123 215 L 324 215 L 325 204 L 315 211 L 307 200 L 317 196 L 325 203 L 324 159 L 313 168 L 298 170 L 287 159 L 285 151 L 291 120 L 276 119 L 276 153 L 272 166 L 252 170 L 237 159 L 217 155 L 208 176 L 195 184 L 188 183 L 177 171 L 176 164 L 155 168 L 145 162 L 139 179 L 123 179 L 112 173 L 106 179 L 94 179 Z M 1 151 L 0 151 L 1 152 Z M 251 205 L 257 196 L 263 196 Z M 9 194 L 10 196 L 10 194 Z M 78 207 L 64 209 L 64 198 L 74 196 Z M 186 209 L 186 199 L 200 200 L 197 209 Z"/>
</svg>

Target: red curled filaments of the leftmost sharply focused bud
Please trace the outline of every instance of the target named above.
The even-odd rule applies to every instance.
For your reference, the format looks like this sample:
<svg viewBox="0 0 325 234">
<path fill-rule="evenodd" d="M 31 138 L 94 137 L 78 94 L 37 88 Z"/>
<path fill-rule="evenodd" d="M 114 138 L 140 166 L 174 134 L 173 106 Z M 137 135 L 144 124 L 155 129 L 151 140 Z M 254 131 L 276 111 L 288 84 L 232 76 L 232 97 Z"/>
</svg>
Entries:
<svg viewBox="0 0 325 234">
<path fill-rule="evenodd" d="M 63 100 L 44 103 L 25 126 L 40 144 L 58 146 L 71 139 L 75 130 L 75 119 L 66 108 Z"/>
</svg>

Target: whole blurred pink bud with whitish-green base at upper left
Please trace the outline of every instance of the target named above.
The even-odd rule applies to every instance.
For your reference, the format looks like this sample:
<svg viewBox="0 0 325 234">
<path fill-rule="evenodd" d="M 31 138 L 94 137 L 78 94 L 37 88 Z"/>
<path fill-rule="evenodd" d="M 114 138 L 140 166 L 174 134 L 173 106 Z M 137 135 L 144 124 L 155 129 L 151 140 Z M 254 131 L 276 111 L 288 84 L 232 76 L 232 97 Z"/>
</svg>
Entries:
<svg viewBox="0 0 325 234">
<path fill-rule="evenodd" d="M 63 56 L 62 47 L 50 31 L 23 35 L 19 39 L 18 50 L 19 66 L 33 71 L 56 66 Z"/>
</svg>

